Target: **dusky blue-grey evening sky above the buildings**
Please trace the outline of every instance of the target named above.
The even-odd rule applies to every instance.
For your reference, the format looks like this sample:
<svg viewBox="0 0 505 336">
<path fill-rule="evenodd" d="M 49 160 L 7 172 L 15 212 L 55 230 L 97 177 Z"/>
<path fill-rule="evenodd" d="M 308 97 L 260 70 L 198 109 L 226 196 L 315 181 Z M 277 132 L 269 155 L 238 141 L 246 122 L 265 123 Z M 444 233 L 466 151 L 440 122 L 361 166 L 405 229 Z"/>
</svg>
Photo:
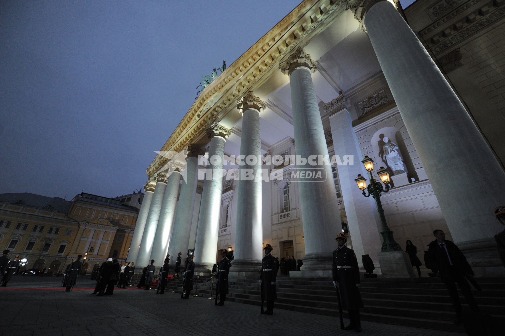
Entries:
<svg viewBox="0 0 505 336">
<path fill-rule="evenodd" d="M 298 3 L 1 1 L 0 193 L 141 188 L 200 76 Z"/>
</svg>

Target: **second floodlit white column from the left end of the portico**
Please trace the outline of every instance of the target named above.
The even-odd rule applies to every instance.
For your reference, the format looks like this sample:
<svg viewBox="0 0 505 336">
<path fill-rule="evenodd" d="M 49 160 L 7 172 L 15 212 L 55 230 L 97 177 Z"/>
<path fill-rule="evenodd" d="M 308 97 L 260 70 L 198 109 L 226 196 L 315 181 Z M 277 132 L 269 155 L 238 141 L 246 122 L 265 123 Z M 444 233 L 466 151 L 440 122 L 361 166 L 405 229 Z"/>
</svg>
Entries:
<svg viewBox="0 0 505 336">
<path fill-rule="evenodd" d="M 163 196 L 165 195 L 165 188 L 167 187 L 167 175 L 156 175 L 156 188 L 149 208 L 149 214 L 145 220 L 144 233 L 140 241 L 140 249 L 135 264 L 139 266 L 147 266 L 150 264 L 150 255 L 153 250 L 153 242 L 155 239 L 156 227 L 158 226 L 158 219 L 160 218 L 161 206 L 163 203 Z M 165 259 L 165 258 L 164 258 Z M 145 266 L 144 266 L 145 265 Z"/>
</svg>

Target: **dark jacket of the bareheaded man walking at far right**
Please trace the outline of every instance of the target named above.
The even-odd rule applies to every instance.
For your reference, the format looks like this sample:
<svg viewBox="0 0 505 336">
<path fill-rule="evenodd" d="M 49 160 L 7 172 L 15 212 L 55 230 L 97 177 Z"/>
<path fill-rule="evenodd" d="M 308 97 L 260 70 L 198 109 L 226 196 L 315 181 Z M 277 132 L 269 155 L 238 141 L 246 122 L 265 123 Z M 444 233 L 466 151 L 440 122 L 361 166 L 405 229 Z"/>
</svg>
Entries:
<svg viewBox="0 0 505 336">
<path fill-rule="evenodd" d="M 451 274 L 445 249 L 440 248 L 436 240 L 428 244 L 428 254 L 426 255 L 426 260 L 429 261 L 430 266 L 432 266 L 431 268 L 436 268 L 440 272 L 440 279 L 442 282 L 455 282 L 456 279 L 452 275 L 458 278 L 464 277 L 466 274 L 473 275 L 472 267 L 470 267 L 467 258 L 460 249 L 458 249 L 456 244 L 451 241 L 444 241 L 444 244 L 447 247 L 447 252 L 449 252 L 450 260 L 454 265 L 453 270 L 456 271 L 455 273 Z"/>
</svg>

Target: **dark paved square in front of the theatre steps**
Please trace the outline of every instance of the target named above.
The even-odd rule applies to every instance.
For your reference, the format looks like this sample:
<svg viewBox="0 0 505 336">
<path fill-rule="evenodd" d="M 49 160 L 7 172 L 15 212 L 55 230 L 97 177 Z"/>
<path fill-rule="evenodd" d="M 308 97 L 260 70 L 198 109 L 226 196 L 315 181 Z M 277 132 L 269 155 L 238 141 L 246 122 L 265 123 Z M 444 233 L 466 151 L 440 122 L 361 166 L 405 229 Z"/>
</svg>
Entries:
<svg viewBox="0 0 505 336">
<path fill-rule="evenodd" d="M 14 276 L 0 287 L 0 334 L 44 335 L 354 335 L 339 328 L 337 317 L 276 309 L 260 314 L 258 306 L 214 300 L 181 300 L 179 294 L 156 295 L 133 289 L 113 296 L 89 295 L 95 282 L 81 277 L 73 292 L 59 287 L 61 278 Z M 347 320 L 344 320 L 348 323 Z M 362 322 L 363 335 L 462 335 L 446 331 Z"/>
</svg>

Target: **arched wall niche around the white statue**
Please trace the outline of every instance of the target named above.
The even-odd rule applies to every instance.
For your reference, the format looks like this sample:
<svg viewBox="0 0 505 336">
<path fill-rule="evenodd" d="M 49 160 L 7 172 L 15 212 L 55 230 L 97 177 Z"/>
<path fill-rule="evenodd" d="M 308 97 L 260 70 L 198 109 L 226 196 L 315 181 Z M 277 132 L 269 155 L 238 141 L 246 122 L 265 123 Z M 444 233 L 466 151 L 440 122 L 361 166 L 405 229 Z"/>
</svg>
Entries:
<svg viewBox="0 0 505 336">
<path fill-rule="evenodd" d="M 372 143 L 372 149 L 375 153 L 375 159 L 374 159 L 374 170 L 377 170 L 379 167 L 383 166 L 386 168 L 389 172 L 390 176 L 398 175 L 398 173 L 395 173 L 392 171 L 392 169 L 387 165 L 387 162 L 385 160 L 385 157 L 382 156 L 382 158 L 379 156 L 379 154 L 382 155 L 382 146 L 385 144 L 383 141 L 383 138 L 387 137 L 391 142 L 393 142 L 396 146 L 398 146 L 398 153 L 401 157 L 401 160 L 403 161 L 403 165 L 406 168 L 406 173 L 407 173 L 407 178 L 408 182 L 412 182 L 412 178 L 414 178 L 416 181 L 419 180 L 416 170 L 414 169 L 414 164 L 412 163 L 412 159 L 409 155 L 409 150 L 407 149 L 407 146 L 405 145 L 405 141 L 403 141 L 403 137 L 398 129 L 395 127 L 383 127 L 379 129 L 377 132 L 374 133 L 371 139 Z M 394 183 L 394 178 L 392 178 L 393 183 Z M 399 186 L 399 185 L 393 185 L 393 186 Z"/>
</svg>

